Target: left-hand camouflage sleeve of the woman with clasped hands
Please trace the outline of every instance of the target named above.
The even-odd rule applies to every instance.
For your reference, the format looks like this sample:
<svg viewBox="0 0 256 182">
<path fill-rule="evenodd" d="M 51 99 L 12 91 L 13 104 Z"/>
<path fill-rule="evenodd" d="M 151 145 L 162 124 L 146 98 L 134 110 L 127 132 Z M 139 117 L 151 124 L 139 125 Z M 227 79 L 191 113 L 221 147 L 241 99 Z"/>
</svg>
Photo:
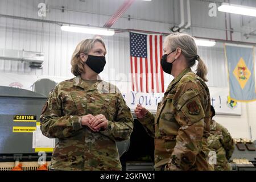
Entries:
<svg viewBox="0 0 256 182">
<path fill-rule="evenodd" d="M 40 129 L 48 138 L 72 137 L 77 130 L 82 129 L 81 116 L 62 115 L 62 102 L 58 97 L 58 86 L 49 94 L 48 100 L 40 115 Z"/>
</svg>

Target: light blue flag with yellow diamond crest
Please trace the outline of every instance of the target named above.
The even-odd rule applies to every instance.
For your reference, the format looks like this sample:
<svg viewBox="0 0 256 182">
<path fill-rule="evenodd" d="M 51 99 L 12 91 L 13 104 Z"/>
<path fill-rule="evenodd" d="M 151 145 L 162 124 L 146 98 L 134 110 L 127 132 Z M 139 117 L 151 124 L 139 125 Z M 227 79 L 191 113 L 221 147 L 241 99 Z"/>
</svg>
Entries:
<svg viewBox="0 0 256 182">
<path fill-rule="evenodd" d="M 256 101 L 254 47 L 225 46 L 229 94 L 235 101 Z"/>
</svg>

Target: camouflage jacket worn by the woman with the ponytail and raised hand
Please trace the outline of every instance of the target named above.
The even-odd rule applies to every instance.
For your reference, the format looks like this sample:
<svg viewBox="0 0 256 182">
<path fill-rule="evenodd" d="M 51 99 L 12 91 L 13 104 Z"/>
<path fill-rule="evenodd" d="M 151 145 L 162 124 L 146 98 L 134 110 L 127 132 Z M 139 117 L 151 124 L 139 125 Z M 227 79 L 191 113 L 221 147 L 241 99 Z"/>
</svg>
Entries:
<svg viewBox="0 0 256 182">
<path fill-rule="evenodd" d="M 155 117 L 139 119 L 155 138 L 155 169 L 213 170 L 208 163 L 210 96 L 205 82 L 190 68 L 168 86 Z"/>
</svg>

